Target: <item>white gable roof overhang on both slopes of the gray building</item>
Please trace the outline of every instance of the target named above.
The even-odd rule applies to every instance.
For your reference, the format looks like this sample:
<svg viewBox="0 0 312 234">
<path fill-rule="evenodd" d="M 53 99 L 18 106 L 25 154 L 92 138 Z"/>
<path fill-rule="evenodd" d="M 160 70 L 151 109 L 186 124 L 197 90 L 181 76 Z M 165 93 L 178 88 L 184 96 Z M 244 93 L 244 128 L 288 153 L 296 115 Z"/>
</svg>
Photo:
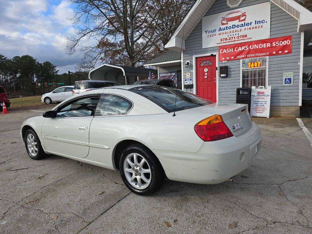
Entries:
<svg viewBox="0 0 312 234">
<path fill-rule="evenodd" d="M 197 0 L 186 14 L 178 28 L 165 45 L 166 49 L 179 51 L 184 49 L 184 40 L 206 14 L 215 0 Z M 226 0 L 224 0 L 226 2 Z M 312 12 L 294 0 L 270 0 L 285 12 L 298 20 L 298 30 L 305 31 L 312 28 Z M 239 8 L 239 6 L 237 7 Z M 182 41 L 183 38 L 183 41 Z"/>
</svg>

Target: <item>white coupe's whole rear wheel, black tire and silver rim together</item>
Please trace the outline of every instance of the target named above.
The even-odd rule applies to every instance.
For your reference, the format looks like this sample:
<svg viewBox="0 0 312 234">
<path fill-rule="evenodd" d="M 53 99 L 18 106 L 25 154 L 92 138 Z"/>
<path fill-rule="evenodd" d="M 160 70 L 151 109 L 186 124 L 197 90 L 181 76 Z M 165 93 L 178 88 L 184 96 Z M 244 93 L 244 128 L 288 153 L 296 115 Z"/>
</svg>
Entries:
<svg viewBox="0 0 312 234">
<path fill-rule="evenodd" d="M 124 150 L 119 160 L 119 170 L 124 184 L 139 195 L 154 193 L 165 179 L 158 159 L 140 144 L 130 145 Z"/>
</svg>

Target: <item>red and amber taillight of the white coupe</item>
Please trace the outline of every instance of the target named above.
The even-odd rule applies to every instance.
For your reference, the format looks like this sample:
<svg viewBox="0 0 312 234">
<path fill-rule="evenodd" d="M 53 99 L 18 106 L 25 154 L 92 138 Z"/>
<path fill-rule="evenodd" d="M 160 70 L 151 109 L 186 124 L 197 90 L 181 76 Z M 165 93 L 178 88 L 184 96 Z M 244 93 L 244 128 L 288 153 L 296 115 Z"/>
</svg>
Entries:
<svg viewBox="0 0 312 234">
<path fill-rule="evenodd" d="M 199 121 L 194 130 L 203 141 L 217 141 L 233 136 L 221 115 L 212 115 Z"/>
</svg>

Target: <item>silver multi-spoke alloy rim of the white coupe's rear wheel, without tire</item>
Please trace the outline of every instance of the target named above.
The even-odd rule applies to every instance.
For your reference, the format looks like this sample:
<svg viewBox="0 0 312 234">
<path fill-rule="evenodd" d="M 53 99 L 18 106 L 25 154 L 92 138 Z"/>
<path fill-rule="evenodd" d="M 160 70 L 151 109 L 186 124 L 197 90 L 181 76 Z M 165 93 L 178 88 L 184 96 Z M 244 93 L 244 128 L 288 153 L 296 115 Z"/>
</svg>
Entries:
<svg viewBox="0 0 312 234">
<path fill-rule="evenodd" d="M 124 160 L 124 174 L 136 189 L 144 189 L 151 182 L 151 169 L 146 159 L 137 153 L 129 154 Z"/>
</svg>

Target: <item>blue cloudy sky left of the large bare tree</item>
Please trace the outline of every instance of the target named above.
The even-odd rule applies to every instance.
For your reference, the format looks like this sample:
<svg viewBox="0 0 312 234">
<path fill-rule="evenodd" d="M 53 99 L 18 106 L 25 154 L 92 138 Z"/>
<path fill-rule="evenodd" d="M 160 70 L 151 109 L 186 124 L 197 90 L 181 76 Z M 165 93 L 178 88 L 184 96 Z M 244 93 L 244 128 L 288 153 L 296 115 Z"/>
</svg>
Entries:
<svg viewBox="0 0 312 234">
<path fill-rule="evenodd" d="M 50 61 L 59 73 L 74 71 L 81 55 L 66 55 L 66 36 L 73 32 L 73 5 L 67 0 L 0 0 L 0 54 L 29 54 Z"/>
</svg>

